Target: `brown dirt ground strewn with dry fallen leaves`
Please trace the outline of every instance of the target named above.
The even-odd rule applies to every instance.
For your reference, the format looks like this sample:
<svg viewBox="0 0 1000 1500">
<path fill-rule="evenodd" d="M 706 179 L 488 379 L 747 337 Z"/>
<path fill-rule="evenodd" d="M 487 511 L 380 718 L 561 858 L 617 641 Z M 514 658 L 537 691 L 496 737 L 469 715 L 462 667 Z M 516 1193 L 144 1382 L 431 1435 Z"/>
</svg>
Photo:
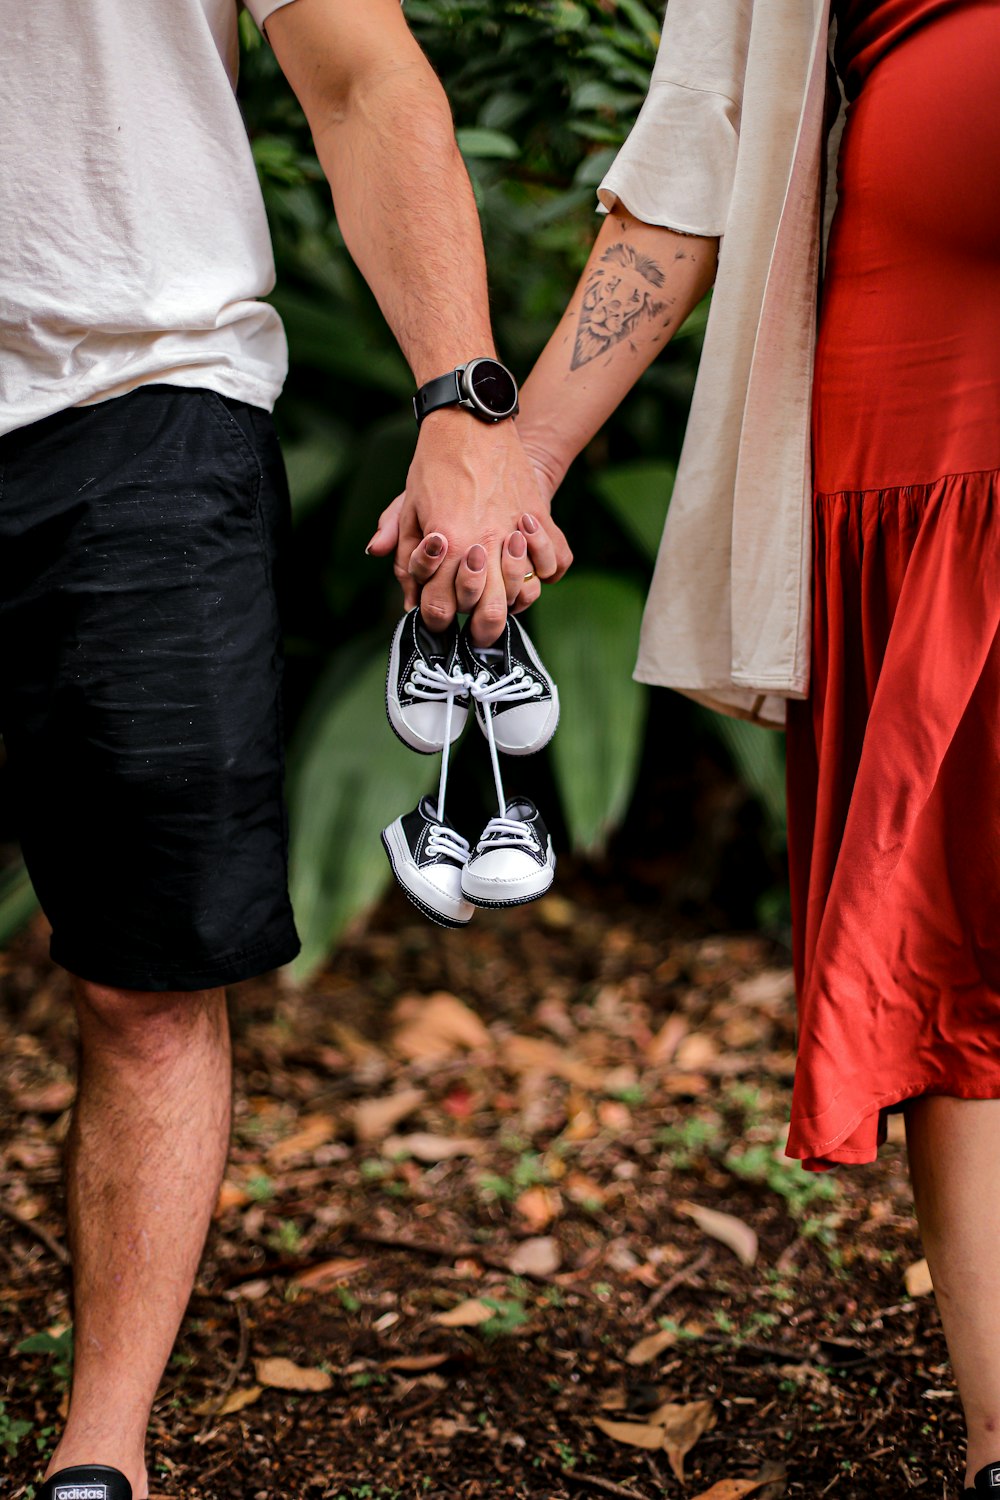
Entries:
<svg viewBox="0 0 1000 1500">
<path fill-rule="evenodd" d="M 306 988 L 232 993 L 232 1155 L 154 1492 L 958 1492 L 900 1132 L 835 1176 L 783 1155 L 787 952 L 559 892 L 465 933 L 393 894 Z M 12 1497 L 70 1359 L 66 999 L 36 927 L 0 975 Z"/>
</svg>

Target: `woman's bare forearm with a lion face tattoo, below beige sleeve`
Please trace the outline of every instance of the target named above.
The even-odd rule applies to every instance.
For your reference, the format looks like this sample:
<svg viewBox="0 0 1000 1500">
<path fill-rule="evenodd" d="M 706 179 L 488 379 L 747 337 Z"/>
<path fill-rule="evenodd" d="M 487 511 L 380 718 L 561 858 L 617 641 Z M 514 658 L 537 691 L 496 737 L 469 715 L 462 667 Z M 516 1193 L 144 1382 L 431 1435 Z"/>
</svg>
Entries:
<svg viewBox="0 0 1000 1500">
<path fill-rule="evenodd" d="M 546 498 L 702 300 L 717 264 L 718 238 L 643 224 L 621 204 L 609 213 L 522 388 L 517 430 Z M 547 574 L 544 564 L 538 572 Z"/>
</svg>

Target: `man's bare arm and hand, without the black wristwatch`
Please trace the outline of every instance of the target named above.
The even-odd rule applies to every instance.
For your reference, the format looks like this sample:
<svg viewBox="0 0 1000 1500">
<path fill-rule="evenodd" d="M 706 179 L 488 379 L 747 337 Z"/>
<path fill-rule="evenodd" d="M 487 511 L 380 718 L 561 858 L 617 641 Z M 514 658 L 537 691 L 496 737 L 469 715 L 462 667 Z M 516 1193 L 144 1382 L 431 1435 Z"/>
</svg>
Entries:
<svg viewBox="0 0 1000 1500">
<path fill-rule="evenodd" d="M 421 386 L 493 354 L 486 260 L 472 188 L 444 90 L 399 0 L 294 0 L 267 21 L 333 189 L 337 222 Z M 513 422 L 495 426 L 450 408 L 424 418 L 399 525 L 396 573 L 408 602 L 415 573 L 427 624 L 475 606 L 474 634 L 496 638 L 529 564 L 511 538 L 538 516 L 559 568 L 568 548 L 553 525 Z M 426 562 L 426 537 L 445 538 Z M 469 568 L 480 543 L 486 567 Z M 433 546 L 433 543 L 432 543 Z M 373 552 L 391 546 L 373 546 Z M 480 554 L 474 554 L 474 562 Z M 423 564 L 423 572 L 421 572 Z"/>
</svg>

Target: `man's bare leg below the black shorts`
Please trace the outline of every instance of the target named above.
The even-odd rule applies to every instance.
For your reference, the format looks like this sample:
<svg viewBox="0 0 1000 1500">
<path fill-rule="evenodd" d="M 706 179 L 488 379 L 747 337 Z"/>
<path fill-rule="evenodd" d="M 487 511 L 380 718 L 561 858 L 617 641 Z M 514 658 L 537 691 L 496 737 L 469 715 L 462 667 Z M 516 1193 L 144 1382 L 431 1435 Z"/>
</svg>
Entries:
<svg viewBox="0 0 1000 1500">
<path fill-rule="evenodd" d="M 147 1496 L 145 1428 L 187 1306 L 229 1143 L 222 990 L 76 984 L 69 1136 L 75 1362 L 49 1473 L 111 1464 Z"/>
</svg>

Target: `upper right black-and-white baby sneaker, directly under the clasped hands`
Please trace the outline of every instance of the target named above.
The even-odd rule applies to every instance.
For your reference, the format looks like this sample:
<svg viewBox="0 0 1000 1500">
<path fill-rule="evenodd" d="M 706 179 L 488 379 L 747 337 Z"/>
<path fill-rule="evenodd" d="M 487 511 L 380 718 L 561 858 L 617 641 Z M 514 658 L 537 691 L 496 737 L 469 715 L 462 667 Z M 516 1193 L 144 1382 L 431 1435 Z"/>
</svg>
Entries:
<svg viewBox="0 0 1000 1500">
<path fill-rule="evenodd" d="M 534 754 L 543 750 L 559 723 L 559 693 L 528 632 L 513 615 L 492 646 L 477 646 L 468 624 L 459 636 L 459 660 L 474 680 L 472 698 L 480 729 L 504 754 Z"/>
</svg>

